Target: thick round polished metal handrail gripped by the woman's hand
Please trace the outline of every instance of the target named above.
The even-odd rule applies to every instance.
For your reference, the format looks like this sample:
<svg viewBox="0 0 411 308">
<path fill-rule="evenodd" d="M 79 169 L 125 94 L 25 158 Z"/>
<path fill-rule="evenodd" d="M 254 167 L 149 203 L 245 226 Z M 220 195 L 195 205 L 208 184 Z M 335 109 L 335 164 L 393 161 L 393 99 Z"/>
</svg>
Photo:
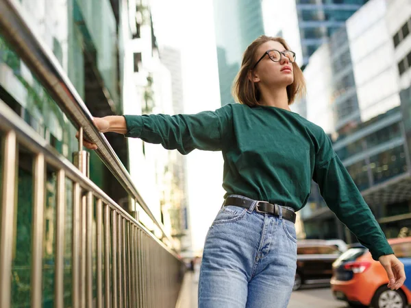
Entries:
<svg viewBox="0 0 411 308">
<path fill-rule="evenodd" d="M 51 97 L 55 99 L 55 102 L 57 102 L 66 116 L 71 119 L 72 123 L 82 127 L 88 138 L 97 144 L 98 150 L 96 152 L 101 161 L 119 180 L 127 193 L 133 196 L 145 213 L 153 220 L 154 224 L 160 228 L 163 237 L 169 239 L 169 243 L 172 244 L 173 241 L 170 235 L 164 231 L 162 224 L 151 213 L 134 186 L 127 169 L 121 163 L 110 143 L 92 123 L 90 111 L 75 90 L 60 63 L 51 50 L 42 43 L 41 38 L 29 28 L 23 16 L 22 8 L 19 6 L 20 3 L 14 0 L 0 1 L 0 33 L 12 44 L 18 56 L 35 73 L 36 77 L 47 88 Z"/>
</svg>

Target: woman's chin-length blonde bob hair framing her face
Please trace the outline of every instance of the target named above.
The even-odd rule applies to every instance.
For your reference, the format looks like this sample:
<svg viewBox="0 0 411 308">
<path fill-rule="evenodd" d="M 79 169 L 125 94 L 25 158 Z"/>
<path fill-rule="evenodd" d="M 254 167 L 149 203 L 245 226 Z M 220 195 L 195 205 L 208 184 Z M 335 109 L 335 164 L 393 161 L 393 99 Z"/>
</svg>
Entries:
<svg viewBox="0 0 411 308">
<path fill-rule="evenodd" d="M 249 79 L 249 73 L 251 73 L 256 64 L 257 58 L 262 56 L 256 54 L 258 47 L 270 40 L 281 43 L 285 49 L 290 50 L 284 38 L 263 35 L 254 40 L 245 49 L 244 56 L 242 56 L 241 69 L 234 80 L 232 95 L 236 102 L 250 107 L 260 105 L 260 89 L 255 82 Z M 306 82 L 303 72 L 296 62 L 292 63 L 292 71 L 294 73 L 294 82 L 286 88 L 288 105 L 292 104 L 297 96 L 302 97 L 306 94 Z"/>
</svg>

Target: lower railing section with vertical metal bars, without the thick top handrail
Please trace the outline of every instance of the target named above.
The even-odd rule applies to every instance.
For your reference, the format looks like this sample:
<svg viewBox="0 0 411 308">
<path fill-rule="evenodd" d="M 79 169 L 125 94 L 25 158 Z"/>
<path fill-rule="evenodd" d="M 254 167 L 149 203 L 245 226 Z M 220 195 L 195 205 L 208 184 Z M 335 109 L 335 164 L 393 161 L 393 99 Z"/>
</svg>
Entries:
<svg viewBox="0 0 411 308">
<path fill-rule="evenodd" d="M 170 248 L 154 237 L 86 178 L 66 158 L 41 139 L 27 123 L 0 100 L 3 170 L 0 224 L 0 307 L 10 307 L 12 243 L 18 151 L 33 156 L 32 281 L 30 303 L 42 307 L 42 248 L 45 174 L 57 174 L 55 239 L 55 307 L 63 306 L 64 211 L 66 178 L 73 182 L 72 307 L 174 307 L 182 283 L 183 264 Z M 93 213 L 93 202 L 96 202 Z M 93 217 L 96 217 L 93 222 Z M 93 226 L 97 234 L 93 240 Z M 93 259 L 93 250 L 96 257 Z M 92 269 L 96 268 L 97 279 Z M 104 288 L 103 288 L 104 285 Z M 93 296 L 96 289 L 97 296 Z"/>
</svg>

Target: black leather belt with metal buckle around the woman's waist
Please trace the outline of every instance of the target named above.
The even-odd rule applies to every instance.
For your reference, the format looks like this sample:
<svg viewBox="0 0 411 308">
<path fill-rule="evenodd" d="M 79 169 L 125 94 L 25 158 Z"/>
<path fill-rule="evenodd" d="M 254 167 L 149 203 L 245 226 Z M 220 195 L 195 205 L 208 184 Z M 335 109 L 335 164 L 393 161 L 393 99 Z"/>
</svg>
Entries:
<svg viewBox="0 0 411 308">
<path fill-rule="evenodd" d="M 224 200 L 223 205 L 234 205 L 234 206 L 241 206 L 245 207 L 246 209 L 249 209 L 249 207 L 255 202 L 255 200 L 251 199 L 244 199 L 244 198 L 238 198 L 238 197 L 227 197 Z M 278 204 L 271 204 L 266 201 L 259 201 L 256 204 L 256 207 L 254 208 L 256 212 L 258 213 L 266 213 L 266 214 L 271 214 L 275 216 L 279 216 L 279 206 Z M 288 209 L 282 208 L 282 217 L 284 220 L 290 220 L 290 222 L 295 223 L 295 213 L 293 211 L 290 211 Z"/>
</svg>

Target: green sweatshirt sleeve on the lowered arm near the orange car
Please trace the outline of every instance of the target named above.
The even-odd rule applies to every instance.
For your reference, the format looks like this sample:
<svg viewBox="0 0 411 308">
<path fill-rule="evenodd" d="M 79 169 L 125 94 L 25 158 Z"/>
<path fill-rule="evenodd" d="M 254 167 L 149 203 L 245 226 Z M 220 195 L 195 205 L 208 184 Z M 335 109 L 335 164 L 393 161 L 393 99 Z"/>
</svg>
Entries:
<svg viewBox="0 0 411 308">
<path fill-rule="evenodd" d="M 371 209 L 332 150 L 332 143 L 325 133 L 322 139 L 316 152 L 313 180 L 318 183 L 327 206 L 356 235 L 358 241 L 369 248 L 374 260 L 385 254 L 393 254 Z"/>
</svg>

